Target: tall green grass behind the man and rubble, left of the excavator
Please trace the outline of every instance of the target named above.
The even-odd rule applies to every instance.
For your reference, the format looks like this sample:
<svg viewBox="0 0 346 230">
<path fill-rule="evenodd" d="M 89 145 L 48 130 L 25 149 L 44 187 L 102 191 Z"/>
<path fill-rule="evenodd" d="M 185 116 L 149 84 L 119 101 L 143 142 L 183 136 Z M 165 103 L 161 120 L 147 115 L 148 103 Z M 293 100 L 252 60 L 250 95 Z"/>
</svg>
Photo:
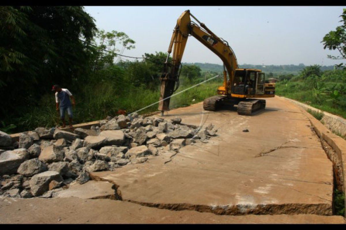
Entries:
<svg viewBox="0 0 346 230">
<path fill-rule="evenodd" d="M 217 87 L 222 83 L 207 82 L 182 92 L 171 98 L 170 108 L 189 106 L 193 103 L 203 101 L 205 98 L 216 95 Z M 175 92 L 191 87 L 185 84 Z M 160 91 L 149 90 L 144 87 L 119 87 L 111 82 L 100 82 L 97 85 L 86 85 L 79 92 L 74 93 L 76 106 L 73 108 L 73 123 L 83 123 L 95 120 L 102 120 L 107 116 L 116 116 L 119 109 L 126 110 L 127 113 L 144 108 L 160 97 Z M 193 99 L 195 99 L 193 101 Z M 146 108 L 139 112 L 144 114 L 158 111 L 158 104 Z M 68 123 L 66 114 L 66 123 Z M 27 109 L 19 118 L 8 118 L 6 124 L 15 124 L 11 129 L 12 133 L 34 130 L 37 127 L 54 127 L 61 125 L 59 112 L 55 110 L 54 94 L 43 95 L 39 105 Z M 4 127 L 6 128 L 6 127 Z"/>
</svg>

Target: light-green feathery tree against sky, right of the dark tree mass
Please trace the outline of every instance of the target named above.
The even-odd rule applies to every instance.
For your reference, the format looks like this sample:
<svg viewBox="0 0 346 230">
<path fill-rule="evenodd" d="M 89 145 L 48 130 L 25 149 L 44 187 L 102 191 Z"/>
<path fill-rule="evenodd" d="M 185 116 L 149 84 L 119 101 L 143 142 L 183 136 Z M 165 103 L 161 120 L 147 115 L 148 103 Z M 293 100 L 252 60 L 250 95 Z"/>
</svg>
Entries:
<svg viewBox="0 0 346 230">
<path fill-rule="evenodd" d="M 96 34 L 96 39 L 93 39 L 92 70 L 99 70 L 113 65 L 114 59 L 118 56 L 117 53 L 122 54 L 125 49 L 135 48 L 133 45 L 135 43 L 124 32 L 99 30 Z"/>
</svg>

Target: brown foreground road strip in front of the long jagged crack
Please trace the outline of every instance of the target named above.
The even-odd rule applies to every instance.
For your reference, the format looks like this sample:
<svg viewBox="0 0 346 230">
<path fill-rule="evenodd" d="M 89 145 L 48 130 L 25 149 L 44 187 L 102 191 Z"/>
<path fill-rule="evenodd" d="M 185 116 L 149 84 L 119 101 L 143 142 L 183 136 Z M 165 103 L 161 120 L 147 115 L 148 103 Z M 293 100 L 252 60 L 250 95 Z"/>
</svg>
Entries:
<svg viewBox="0 0 346 230">
<path fill-rule="evenodd" d="M 0 223 L 345 223 L 341 216 L 221 216 L 170 211 L 109 199 L 0 199 Z"/>
</svg>

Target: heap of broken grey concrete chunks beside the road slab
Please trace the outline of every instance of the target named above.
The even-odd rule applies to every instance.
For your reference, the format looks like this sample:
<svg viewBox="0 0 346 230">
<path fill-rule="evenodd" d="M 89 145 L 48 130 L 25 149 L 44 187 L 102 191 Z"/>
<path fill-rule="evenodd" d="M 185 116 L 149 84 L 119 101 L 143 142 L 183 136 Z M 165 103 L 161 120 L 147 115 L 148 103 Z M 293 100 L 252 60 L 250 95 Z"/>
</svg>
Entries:
<svg viewBox="0 0 346 230">
<path fill-rule="evenodd" d="M 101 127 L 56 128 L 23 132 L 19 141 L 0 131 L 0 196 L 54 197 L 69 184 L 83 184 L 93 171 L 144 163 L 163 152 L 216 136 L 212 124 L 195 127 L 181 118 L 119 115 L 100 121 Z"/>
</svg>

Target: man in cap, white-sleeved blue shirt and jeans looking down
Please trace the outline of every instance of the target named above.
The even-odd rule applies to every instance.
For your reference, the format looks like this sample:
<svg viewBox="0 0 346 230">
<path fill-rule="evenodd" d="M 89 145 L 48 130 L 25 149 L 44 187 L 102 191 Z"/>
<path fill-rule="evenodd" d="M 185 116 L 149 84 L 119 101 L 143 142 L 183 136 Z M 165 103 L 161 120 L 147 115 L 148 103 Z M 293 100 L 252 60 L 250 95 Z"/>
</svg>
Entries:
<svg viewBox="0 0 346 230">
<path fill-rule="evenodd" d="M 67 113 L 69 114 L 69 123 L 70 128 L 72 128 L 72 106 L 70 97 L 72 99 L 72 105 L 75 106 L 76 102 L 74 100 L 74 97 L 72 96 L 72 93 L 68 89 L 62 89 L 59 85 L 54 85 L 52 88 L 52 91 L 55 91 L 55 102 L 56 102 L 56 111 L 59 110 L 59 103 L 60 103 L 60 118 L 63 122 L 62 128 L 65 128 L 65 111 L 67 110 Z"/>
</svg>

